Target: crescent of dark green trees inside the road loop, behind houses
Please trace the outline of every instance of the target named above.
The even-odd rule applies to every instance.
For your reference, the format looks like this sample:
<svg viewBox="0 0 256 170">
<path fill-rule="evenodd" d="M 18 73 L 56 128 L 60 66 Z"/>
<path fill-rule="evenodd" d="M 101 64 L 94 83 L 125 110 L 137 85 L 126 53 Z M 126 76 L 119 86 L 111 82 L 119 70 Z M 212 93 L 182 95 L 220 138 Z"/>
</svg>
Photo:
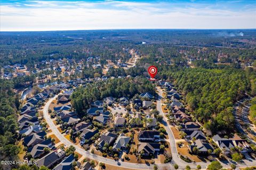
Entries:
<svg viewBox="0 0 256 170">
<path fill-rule="evenodd" d="M 146 78 L 108 79 L 105 83 L 92 83 L 86 87 L 78 87 L 71 95 L 71 103 L 78 113 L 83 114 L 95 100 L 101 100 L 108 96 L 132 98 L 135 94 L 145 92 L 155 94 L 154 85 Z"/>
</svg>

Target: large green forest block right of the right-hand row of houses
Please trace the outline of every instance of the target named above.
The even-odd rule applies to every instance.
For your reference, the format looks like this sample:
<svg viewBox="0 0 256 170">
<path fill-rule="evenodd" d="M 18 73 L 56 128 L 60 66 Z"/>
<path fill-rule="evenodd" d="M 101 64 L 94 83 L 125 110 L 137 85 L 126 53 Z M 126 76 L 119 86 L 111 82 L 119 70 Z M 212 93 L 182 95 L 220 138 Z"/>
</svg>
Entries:
<svg viewBox="0 0 256 170">
<path fill-rule="evenodd" d="M 250 83 L 250 80 L 256 80 L 256 74 L 249 69 L 165 67 L 160 74 L 162 78 L 174 81 L 186 96 L 188 108 L 213 133 L 232 131 L 233 103 L 246 92 L 253 95 L 256 92 L 255 83 Z"/>
</svg>

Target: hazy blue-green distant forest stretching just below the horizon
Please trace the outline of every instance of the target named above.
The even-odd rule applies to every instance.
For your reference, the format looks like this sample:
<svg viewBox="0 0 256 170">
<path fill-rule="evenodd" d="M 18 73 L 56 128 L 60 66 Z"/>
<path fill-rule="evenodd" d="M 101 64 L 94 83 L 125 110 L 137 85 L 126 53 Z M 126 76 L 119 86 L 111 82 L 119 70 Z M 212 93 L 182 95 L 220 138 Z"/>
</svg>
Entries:
<svg viewBox="0 0 256 170">
<path fill-rule="evenodd" d="M 142 54 L 146 54 L 145 51 L 151 51 L 154 55 L 162 53 L 165 59 L 176 63 L 182 61 L 180 50 L 188 50 L 188 55 L 196 58 L 212 60 L 221 51 L 230 54 L 227 56 L 229 62 L 233 59 L 255 59 L 255 39 L 254 29 L 1 32 L 0 66 L 22 63 L 33 67 L 35 61 L 82 59 L 87 56 L 125 62 L 130 56 L 123 48 L 140 49 Z M 142 45 L 142 41 L 146 44 Z M 197 55 L 198 48 L 204 46 L 207 50 Z M 254 49 L 254 52 L 246 49 Z"/>
</svg>

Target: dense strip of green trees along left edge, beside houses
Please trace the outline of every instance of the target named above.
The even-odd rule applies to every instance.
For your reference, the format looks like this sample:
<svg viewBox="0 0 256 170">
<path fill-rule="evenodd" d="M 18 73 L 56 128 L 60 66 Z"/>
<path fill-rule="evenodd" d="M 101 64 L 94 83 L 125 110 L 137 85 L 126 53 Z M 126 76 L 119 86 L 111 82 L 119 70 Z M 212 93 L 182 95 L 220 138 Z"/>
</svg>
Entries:
<svg viewBox="0 0 256 170">
<path fill-rule="evenodd" d="M 10 80 L 0 79 L 0 159 L 19 160 L 20 148 L 16 144 L 18 123 L 17 108 L 19 98 L 13 91 L 13 83 Z M 0 169 L 10 169 L 17 165 L 0 165 Z"/>
</svg>

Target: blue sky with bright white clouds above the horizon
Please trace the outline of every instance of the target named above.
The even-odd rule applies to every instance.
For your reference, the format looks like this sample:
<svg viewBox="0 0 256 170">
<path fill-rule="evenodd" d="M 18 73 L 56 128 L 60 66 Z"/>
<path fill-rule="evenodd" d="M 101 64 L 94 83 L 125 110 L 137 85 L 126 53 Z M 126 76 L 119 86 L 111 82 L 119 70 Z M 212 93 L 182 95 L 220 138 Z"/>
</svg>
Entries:
<svg viewBox="0 0 256 170">
<path fill-rule="evenodd" d="M 256 1 L 2 0 L 1 31 L 256 28 Z"/>
</svg>

